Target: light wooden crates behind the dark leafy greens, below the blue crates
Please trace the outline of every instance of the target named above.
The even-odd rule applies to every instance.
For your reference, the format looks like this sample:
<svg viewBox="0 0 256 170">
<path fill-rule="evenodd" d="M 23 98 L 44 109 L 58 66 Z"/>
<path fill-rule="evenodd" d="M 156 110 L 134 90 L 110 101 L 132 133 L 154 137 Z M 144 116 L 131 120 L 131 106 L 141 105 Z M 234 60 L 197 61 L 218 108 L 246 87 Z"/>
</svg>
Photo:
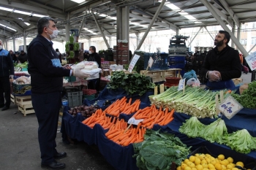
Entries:
<svg viewBox="0 0 256 170">
<path fill-rule="evenodd" d="M 140 74 L 151 77 L 152 82 L 163 82 L 165 77 L 178 77 L 181 74 L 181 69 L 167 69 L 167 70 L 156 70 L 156 71 L 147 71 L 140 70 Z"/>
</svg>

